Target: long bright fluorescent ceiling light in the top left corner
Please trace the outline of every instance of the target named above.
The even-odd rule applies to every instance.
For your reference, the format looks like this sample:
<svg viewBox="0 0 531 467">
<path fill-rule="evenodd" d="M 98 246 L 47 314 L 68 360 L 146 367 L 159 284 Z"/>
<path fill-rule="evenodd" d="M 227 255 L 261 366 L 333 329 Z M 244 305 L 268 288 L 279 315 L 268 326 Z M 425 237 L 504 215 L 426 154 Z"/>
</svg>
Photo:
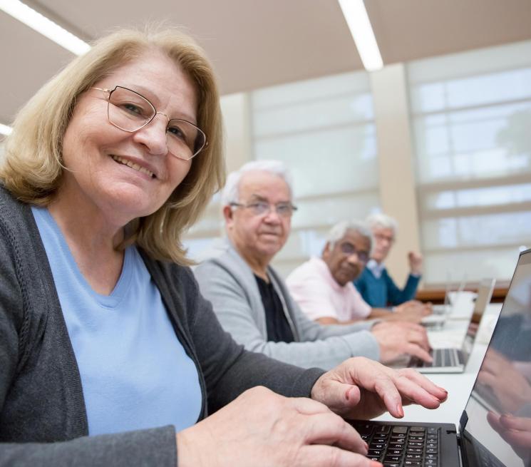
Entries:
<svg viewBox="0 0 531 467">
<path fill-rule="evenodd" d="M 76 55 L 81 55 L 91 48 L 88 43 L 19 0 L 0 0 L 0 9 Z"/>
</svg>

